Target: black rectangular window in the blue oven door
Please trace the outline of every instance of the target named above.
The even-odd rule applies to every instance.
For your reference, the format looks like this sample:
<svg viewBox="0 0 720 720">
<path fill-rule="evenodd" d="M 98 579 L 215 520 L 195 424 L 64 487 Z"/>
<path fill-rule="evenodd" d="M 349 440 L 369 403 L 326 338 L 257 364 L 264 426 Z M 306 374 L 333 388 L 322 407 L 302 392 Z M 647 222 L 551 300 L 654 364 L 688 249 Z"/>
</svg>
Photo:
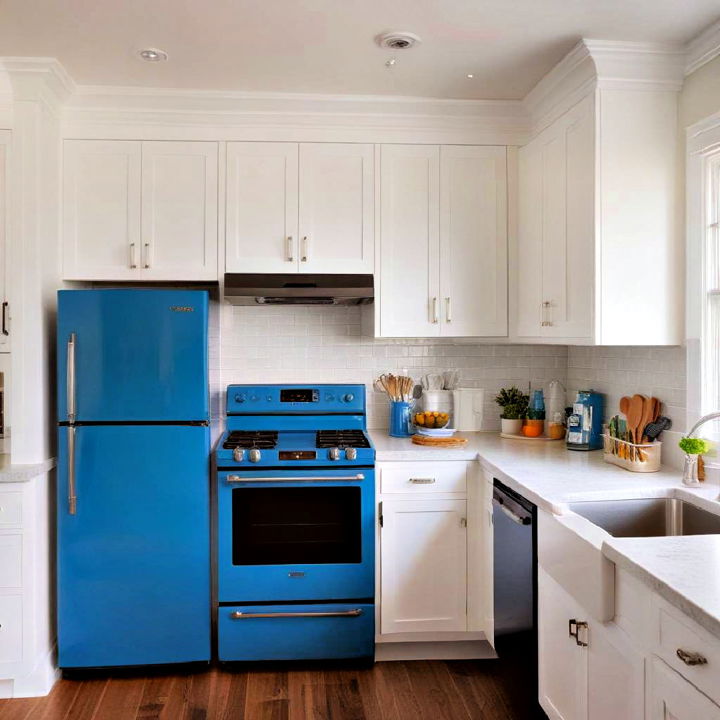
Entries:
<svg viewBox="0 0 720 720">
<path fill-rule="evenodd" d="M 361 488 L 237 488 L 233 565 L 361 562 Z"/>
</svg>

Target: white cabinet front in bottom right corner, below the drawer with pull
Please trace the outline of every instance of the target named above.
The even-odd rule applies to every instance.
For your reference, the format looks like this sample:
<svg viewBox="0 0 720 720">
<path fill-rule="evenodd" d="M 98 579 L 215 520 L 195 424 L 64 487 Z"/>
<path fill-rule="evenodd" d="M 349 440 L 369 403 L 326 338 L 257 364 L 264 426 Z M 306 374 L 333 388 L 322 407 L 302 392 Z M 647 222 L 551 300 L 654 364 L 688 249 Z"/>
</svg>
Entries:
<svg viewBox="0 0 720 720">
<path fill-rule="evenodd" d="M 647 717 L 648 720 L 720 720 L 720 707 L 654 657 L 650 664 Z"/>
</svg>

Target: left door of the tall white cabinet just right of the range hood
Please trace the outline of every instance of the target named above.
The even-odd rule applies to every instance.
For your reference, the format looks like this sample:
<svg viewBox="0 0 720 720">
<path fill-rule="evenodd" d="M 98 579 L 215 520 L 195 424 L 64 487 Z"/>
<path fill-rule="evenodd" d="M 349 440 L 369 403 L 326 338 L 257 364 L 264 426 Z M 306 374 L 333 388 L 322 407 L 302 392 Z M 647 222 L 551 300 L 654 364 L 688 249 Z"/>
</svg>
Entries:
<svg viewBox="0 0 720 720">
<path fill-rule="evenodd" d="M 383 145 L 380 163 L 380 333 L 440 335 L 440 148 Z"/>
</svg>

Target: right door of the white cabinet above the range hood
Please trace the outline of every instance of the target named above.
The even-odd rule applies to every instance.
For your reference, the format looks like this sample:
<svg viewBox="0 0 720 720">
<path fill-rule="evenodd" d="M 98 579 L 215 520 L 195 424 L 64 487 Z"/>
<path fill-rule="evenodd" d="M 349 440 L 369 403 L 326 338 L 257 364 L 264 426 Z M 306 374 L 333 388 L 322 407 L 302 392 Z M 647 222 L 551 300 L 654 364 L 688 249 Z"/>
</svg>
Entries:
<svg viewBox="0 0 720 720">
<path fill-rule="evenodd" d="M 372 273 L 374 147 L 300 145 L 300 272 Z"/>
</svg>

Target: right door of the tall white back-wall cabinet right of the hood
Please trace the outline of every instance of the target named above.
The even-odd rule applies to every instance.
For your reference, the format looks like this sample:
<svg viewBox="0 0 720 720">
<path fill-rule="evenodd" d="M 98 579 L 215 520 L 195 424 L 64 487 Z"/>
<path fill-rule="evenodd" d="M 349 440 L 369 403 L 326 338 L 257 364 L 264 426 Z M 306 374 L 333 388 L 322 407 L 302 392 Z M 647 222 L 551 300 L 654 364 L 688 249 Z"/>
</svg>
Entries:
<svg viewBox="0 0 720 720">
<path fill-rule="evenodd" d="M 504 147 L 440 149 L 441 334 L 507 334 Z"/>
</svg>

